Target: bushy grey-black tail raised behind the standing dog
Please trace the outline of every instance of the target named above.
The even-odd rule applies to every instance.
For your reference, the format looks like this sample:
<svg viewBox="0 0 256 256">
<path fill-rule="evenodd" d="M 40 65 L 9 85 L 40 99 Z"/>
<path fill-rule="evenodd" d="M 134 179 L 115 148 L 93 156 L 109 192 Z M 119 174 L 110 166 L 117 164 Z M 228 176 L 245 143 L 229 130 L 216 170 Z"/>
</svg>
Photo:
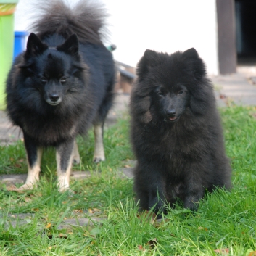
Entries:
<svg viewBox="0 0 256 256">
<path fill-rule="evenodd" d="M 80 42 L 102 44 L 107 12 L 95 0 L 80 0 L 70 7 L 64 0 L 35 1 L 35 17 L 30 30 L 40 38 L 57 33 L 65 38 L 76 33 Z M 39 13 L 38 13 L 39 12 Z"/>
</svg>

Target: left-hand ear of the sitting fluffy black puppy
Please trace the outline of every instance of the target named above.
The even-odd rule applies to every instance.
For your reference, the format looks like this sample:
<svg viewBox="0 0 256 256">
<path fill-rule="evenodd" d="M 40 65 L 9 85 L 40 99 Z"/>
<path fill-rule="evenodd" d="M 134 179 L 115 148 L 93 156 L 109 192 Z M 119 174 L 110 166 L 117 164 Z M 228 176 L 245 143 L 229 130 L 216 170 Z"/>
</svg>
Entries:
<svg viewBox="0 0 256 256">
<path fill-rule="evenodd" d="M 157 51 L 152 51 L 147 49 L 144 52 L 143 57 L 140 59 L 138 65 L 137 65 L 137 70 L 136 74 L 140 77 L 146 75 L 149 72 L 149 69 L 151 67 L 155 67 L 159 65 L 160 63 L 160 58 L 159 54 Z"/>
</svg>

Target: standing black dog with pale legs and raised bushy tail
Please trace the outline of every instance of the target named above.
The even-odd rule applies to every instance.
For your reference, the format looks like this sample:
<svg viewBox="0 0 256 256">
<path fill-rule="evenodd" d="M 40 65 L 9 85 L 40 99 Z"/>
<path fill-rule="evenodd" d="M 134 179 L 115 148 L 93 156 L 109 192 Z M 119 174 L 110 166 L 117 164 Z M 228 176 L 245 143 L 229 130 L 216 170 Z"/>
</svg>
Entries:
<svg viewBox="0 0 256 256">
<path fill-rule="evenodd" d="M 39 178 L 42 148 L 57 149 L 59 190 L 69 188 L 78 134 L 94 125 L 94 161 L 104 160 L 102 128 L 112 104 L 115 68 L 100 32 L 105 12 L 80 1 L 73 9 L 62 1 L 41 2 L 27 50 L 15 60 L 7 80 L 7 111 L 24 133 L 28 178 Z"/>
</svg>

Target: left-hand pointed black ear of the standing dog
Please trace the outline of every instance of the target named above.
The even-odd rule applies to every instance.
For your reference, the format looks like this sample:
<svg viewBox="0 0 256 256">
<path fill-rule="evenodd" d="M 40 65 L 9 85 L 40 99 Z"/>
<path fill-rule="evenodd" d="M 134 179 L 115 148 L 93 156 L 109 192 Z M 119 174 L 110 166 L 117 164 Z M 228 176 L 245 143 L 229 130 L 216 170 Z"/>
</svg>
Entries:
<svg viewBox="0 0 256 256">
<path fill-rule="evenodd" d="M 33 57 L 38 54 L 42 54 L 48 46 L 44 44 L 38 36 L 34 33 L 30 33 L 28 36 L 27 50 L 25 51 L 25 57 Z"/>
</svg>

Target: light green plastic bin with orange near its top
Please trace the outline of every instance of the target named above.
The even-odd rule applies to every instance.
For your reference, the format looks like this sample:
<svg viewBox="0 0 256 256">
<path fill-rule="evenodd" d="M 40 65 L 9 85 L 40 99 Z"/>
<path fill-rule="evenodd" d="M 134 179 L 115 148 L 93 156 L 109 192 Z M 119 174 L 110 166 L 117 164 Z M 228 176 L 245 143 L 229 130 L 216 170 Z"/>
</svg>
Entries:
<svg viewBox="0 0 256 256">
<path fill-rule="evenodd" d="M 0 110 L 4 110 L 5 83 L 12 65 L 14 15 L 18 0 L 0 0 Z"/>
</svg>

